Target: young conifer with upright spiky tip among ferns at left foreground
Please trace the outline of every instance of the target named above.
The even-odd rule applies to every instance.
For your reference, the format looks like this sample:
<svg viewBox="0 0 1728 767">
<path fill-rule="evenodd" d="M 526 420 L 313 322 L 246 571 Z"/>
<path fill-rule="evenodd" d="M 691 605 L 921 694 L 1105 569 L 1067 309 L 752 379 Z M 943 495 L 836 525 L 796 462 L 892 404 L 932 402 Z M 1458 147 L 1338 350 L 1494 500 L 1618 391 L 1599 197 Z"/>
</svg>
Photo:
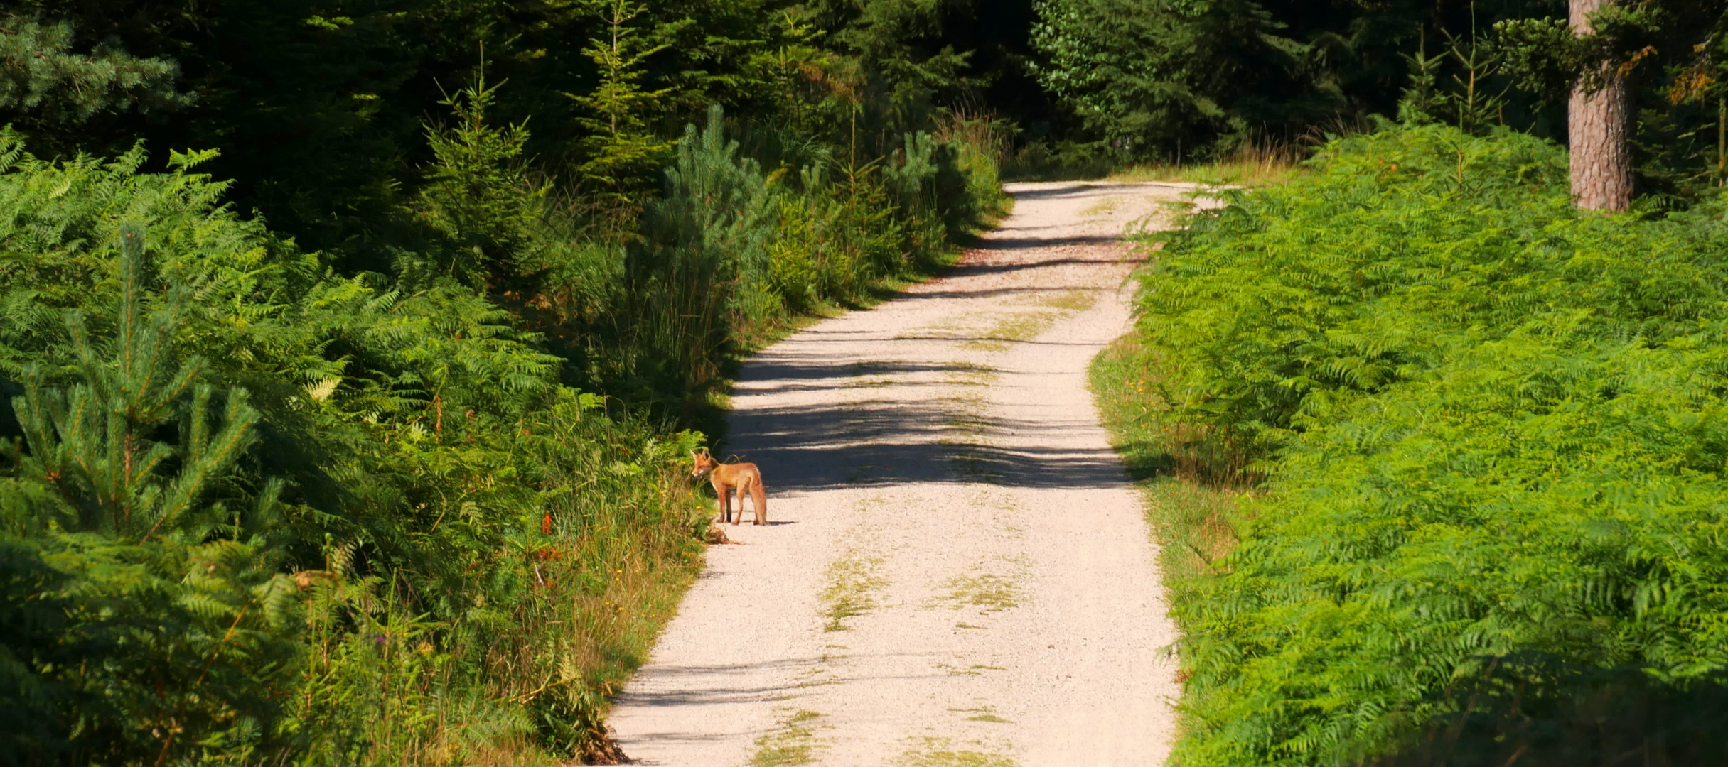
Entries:
<svg viewBox="0 0 1728 767">
<path fill-rule="evenodd" d="M 238 487 L 257 413 L 199 384 L 200 359 L 175 363 L 187 292 L 147 311 L 143 228 L 123 226 L 121 245 L 116 337 L 69 313 L 76 382 L 31 371 L 12 401 L 0 743 L 36 764 L 244 757 L 271 738 L 297 658 L 270 537 L 280 484 Z"/>
</svg>

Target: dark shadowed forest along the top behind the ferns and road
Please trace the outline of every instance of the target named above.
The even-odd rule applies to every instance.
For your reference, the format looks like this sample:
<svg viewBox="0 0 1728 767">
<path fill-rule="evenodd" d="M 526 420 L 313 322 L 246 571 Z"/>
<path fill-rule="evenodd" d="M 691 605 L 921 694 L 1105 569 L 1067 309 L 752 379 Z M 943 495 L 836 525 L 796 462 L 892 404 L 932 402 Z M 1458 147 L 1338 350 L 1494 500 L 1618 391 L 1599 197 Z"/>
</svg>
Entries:
<svg viewBox="0 0 1728 767">
<path fill-rule="evenodd" d="M 178 78 L 157 86 L 190 104 L 86 119 L 21 109 L 12 119 L 38 154 L 112 155 L 137 140 L 216 149 L 207 168 L 237 180 L 242 209 L 375 266 L 366 254 L 385 237 L 378 219 L 432 161 L 422 123 L 446 112 L 442 93 L 482 55 L 494 81 L 510 81 L 494 119 L 532 117 L 524 155 L 548 178 L 581 178 L 570 171 L 594 150 L 581 98 L 601 79 L 584 48 L 605 38 L 601 5 L 14 3 L 17 19 L 71 22 L 71 52 L 111 45 L 173 60 Z M 1396 117 L 1412 88 L 1441 97 L 1417 98 L 1438 119 L 1564 140 L 1559 62 L 1528 50 L 1528 35 L 1507 35 L 1507 24 L 1564 16 L 1559 0 L 657 2 L 627 26 L 658 48 L 634 71 L 657 93 L 638 102 L 643 128 L 660 136 L 721 104 L 752 124 L 746 140 L 766 161 L 797 159 L 800 142 L 786 136 L 812 133 L 800 109 L 838 97 L 861 98 L 874 145 L 897 126 L 957 112 L 994 117 L 1014 149 L 1127 164 L 1175 159 L 1184 145 L 1204 161 L 1246 142 L 1362 128 L 1374 114 Z M 1610 54 L 1635 79 L 1643 192 L 1688 197 L 1716 178 L 1721 9 L 1636 3 L 1626 16 L 1623 50 Z M 804 107 L 788 85 L 805 90 Z M 1469 114 L 1452 95 L 1469 100 Z M 826 119 L 836 128 L 835 114 Z"/>
</svg>

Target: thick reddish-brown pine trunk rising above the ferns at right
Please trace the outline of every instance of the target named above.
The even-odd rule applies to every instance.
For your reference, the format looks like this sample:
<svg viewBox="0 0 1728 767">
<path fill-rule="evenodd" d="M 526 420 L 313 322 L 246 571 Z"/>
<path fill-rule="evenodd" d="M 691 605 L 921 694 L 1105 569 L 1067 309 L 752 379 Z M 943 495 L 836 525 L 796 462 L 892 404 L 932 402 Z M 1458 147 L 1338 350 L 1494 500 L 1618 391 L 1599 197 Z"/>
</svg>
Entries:
<svg viewBox="0 0 1728 767">
<path fill-rule="evenodd" d="M 1571 0 L 1572 31 L 1590 35 L 1590 14 L 1610 2 Z M 1572 98 L 1566 105 L 1567 143 L 1572 152 L 1572 200 L 1586 211 L 1624 211 L 1631 207 L 1626 78 L 1614 64 L 1602 67 L 1604 79 L 1572 86 Z M 1600 88 L 1591 92 L 1588 85 Z"/>
</svg>

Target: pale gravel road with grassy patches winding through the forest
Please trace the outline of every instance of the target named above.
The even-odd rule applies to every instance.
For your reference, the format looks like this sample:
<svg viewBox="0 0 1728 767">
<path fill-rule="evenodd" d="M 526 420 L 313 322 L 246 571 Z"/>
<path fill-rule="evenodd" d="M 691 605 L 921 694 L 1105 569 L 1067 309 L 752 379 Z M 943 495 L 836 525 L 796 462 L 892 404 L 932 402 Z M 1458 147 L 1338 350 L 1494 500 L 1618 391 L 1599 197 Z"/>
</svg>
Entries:
<svg viewBox="0 0 1728 767">
<path fill-rule="evenodd" d="M 726 527 L 612 713 L 648 765 L 1158 765 L 1175 631 L 1085 370 L 1128 326 L 1116 235 L 1184 185 L 1011 185 L 947 276 L 752 359 Z"/>
</svg>

